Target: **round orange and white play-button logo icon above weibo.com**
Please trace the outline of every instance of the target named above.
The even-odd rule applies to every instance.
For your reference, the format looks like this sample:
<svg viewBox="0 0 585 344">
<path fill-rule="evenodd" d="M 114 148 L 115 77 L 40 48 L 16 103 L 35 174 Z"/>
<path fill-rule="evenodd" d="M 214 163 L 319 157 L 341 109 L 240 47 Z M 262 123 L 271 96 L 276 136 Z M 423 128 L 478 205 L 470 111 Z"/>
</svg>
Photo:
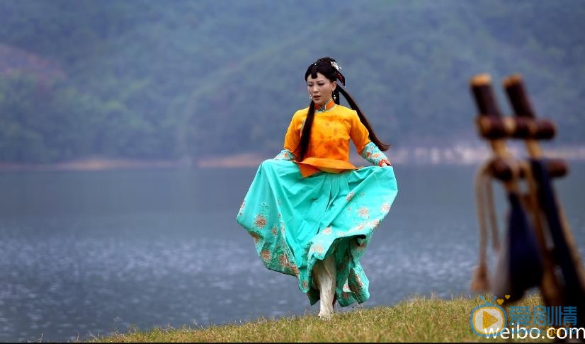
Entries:
<svg viewBox="0 0 585 344">
<path fill-rule="evenodd" d="M 473 332 L 479 336 L 498 336 L 506 327 L 506 311 L 499 304 L 494 304 L 497 297 L 487 302 L 480 296 L 484 304 L 475 307 L 470 314 L 470 326 Z"/>
</svg>

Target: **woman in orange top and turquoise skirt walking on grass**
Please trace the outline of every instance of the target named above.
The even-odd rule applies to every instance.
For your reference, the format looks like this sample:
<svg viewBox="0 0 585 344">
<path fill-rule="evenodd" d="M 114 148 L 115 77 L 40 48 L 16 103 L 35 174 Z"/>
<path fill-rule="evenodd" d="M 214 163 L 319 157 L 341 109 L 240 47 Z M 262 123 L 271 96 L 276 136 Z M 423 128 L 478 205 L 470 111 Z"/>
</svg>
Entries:
<svg viewBox="0 0 585 344">
<path fill-rule="evenodd" d="M 284 149 L 263 161 L 237 215 L 266 268 L 296 276 L 319 317 L 370 297 L 359 259 L 390 210 L 398 188 L 394 169 L 372 127 L 347 91 L 330 57 L 305 72 L 309 108 L 298 110 Z M 341 93 L 351 109 L 339 105 Z M 353 109 L 353 110 L 352 110 Z M 375 166 L 349 162 L 349 140 Z"/>
</svg>

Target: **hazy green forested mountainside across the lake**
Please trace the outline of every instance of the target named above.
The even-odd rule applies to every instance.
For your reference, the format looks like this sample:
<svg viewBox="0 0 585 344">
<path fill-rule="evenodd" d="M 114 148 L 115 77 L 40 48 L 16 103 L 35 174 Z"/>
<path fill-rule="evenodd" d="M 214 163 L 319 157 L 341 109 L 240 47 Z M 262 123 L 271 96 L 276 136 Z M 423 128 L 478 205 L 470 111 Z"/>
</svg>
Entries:
<svg viewBox="0 0 585 344">
<path fill-rule="evenodd" d="M 555 141 L 585 141 L 584 1 L 4 0 L 0 16 L 0 161 L 276 154 L 322 56 L 394 147 L 474 141 L 480 72 L 523 74 Z"/>
</svg>

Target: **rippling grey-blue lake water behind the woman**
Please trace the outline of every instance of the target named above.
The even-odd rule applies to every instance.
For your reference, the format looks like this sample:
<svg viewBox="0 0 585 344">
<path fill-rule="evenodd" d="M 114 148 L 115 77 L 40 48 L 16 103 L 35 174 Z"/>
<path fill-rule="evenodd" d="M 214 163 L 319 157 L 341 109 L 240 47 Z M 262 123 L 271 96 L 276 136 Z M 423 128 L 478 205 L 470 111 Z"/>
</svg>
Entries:
<svg viewBox="0 0 585 344">
<path fill-rule="evenodd" d="M 316 313 L 295 277 L 263 267 L 235 222 L 255 172 L 0 173 L 0 340 Z M 555 182 L 581 256 L 584 172 L 572 164 Z M 395 173 L 399 195 L 361 260 L 371 294 L 362 306 L 469 294 L 475 166 Z M 502 214 L 501 192 L 496 199 Z"/>
</svg>

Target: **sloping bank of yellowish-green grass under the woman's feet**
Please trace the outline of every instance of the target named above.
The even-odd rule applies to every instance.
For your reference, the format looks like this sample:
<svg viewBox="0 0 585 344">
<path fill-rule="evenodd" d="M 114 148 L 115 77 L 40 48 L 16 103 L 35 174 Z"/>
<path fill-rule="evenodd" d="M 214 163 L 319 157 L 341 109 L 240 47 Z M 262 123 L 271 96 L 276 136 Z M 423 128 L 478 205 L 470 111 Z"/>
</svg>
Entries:
<svg viewBox="0 0 585 344">
<path fill-rule="evenodd" d="M 487 297 L 486 297 L 487 299 Z M 322 321 L 316 314 L 256 319 L 209 328 L 155 328 L 93 338 L 94 342 L 491 342 L 470 329 L 470 311 L 484 302 L 474 299 L 417 298 L 396 306 L 358 308 Z M 538 295 L 516 306 L 543 305 Z M 506 302 L 502 304 L 507 308 Z M 507 309 L 506 309 L 507 312 Z M 516 340 L 516 341 L 527 341 Z M 499 340 L 503 341 L 503 340 Z M 506 340 L 513 341 L 513 340 Z"/>
</svg>

